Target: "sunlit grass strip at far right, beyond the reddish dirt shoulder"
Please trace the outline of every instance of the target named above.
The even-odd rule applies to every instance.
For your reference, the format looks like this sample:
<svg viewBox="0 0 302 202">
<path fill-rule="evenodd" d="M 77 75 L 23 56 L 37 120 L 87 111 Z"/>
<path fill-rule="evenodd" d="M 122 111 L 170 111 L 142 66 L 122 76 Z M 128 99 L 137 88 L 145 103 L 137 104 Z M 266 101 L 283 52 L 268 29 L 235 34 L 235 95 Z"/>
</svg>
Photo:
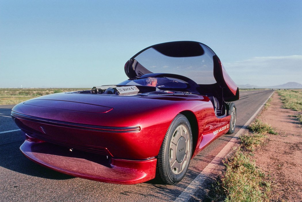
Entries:
<svg viewBox="0 0 302 202">
<path fill-rule="evenodd" d="M 302 111 L 302 90 L 278 90 L 283 107 L 294 111 Z"/>
</svg>

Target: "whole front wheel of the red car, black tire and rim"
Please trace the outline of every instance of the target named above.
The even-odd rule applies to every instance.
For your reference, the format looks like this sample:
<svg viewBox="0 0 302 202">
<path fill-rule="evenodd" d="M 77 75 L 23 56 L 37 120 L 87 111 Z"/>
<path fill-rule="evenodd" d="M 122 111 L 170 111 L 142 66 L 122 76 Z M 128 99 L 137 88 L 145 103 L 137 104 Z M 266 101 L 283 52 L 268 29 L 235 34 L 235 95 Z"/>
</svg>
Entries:
<svg viewBox="0 0 302 202">
<path fill-rule="evenodd" d="M 192 156 L 192 130 L 188 119 L 178 114 L 169 126 L 157 158 L 157 175 L 164 184 L 184 178 Z"/>
</svg>

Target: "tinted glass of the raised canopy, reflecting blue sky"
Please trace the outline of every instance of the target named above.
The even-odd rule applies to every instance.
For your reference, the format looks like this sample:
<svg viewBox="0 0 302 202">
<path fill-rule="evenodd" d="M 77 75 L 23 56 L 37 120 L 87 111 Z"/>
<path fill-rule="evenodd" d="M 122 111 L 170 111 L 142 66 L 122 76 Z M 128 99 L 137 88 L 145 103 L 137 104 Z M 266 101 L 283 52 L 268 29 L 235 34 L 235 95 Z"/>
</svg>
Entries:
<svg viewBox="0 0 302 202">
<path fill-rule="evenodd" d="M 172 73 L 188 77 L 198 84 L 216 83 L 213 73 L 214 52 L 203 44 L 198 43 L 197 46 L 194 47 L 196 50 L 185 50 L 190 52 L 185 57 L 177 55 L 172 49 L 151 47 L 134 58 L 133 69 L 137 75 Z M 185 51 L 182 50 L 182 53 Z"/>
</svg>

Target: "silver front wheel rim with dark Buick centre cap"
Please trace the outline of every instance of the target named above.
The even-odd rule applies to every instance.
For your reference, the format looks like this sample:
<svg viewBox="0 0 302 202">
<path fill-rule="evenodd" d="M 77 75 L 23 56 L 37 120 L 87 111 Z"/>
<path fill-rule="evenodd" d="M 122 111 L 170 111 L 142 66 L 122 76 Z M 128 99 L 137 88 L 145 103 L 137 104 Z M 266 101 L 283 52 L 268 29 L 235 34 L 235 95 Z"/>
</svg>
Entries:
<svg viewBox="0 0 302 202">
<path fill-rule="evenodd" d="M 181 173 L 187 165 L 190 151 L 190 137 L 188 128 L 185 125 L 179 125 L 172 136 L 170 143 L 170 167 L 174 174 Z"/>
</svg>

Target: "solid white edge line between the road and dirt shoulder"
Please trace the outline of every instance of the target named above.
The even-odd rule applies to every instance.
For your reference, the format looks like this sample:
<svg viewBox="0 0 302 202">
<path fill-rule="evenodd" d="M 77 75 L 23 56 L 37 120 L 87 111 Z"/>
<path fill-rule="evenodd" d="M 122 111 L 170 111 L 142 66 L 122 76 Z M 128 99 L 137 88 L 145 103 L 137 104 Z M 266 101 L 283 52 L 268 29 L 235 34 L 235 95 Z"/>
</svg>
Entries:
<svg viewBox="0 0 302 202">
<path fill-rule="evenodd" d="M 271 98 L 274 92 L 275 91 L 271 93 L 268 99 Z M 217 169 L 217 166 L 220 164 L 221 160 L 232 152 L 231 149 L 235 146 L 238 137 L 245 131 L 247 126 L 255 119 L 255 117 L 262 110 L 268 99 L 265 100 L 265 102 L 259 107 L 259 109 L 255 112 L 255 114 L 253 114 L 253 116 L 242 126 L 242 128 L 236 133 L 236 135 L 234 135 L 234 137 L 230 140 L 230 142 L 228 142 L 223 147 L 223 149 L 215 156 L 215 158 L 201 171 L 200 174 L 198 174 L 198 176 L 193 181 L 191 181 L 188 187 L 186 187 L 185 190 L 174 201 L 177 202 L 188 201 L 196 191 L 204 191 L 201 188 L 201 185 L 204 184 L 204 181 L 208 179 L 209 176 L 211 176 L 212 171 L 214 169 Z"/>
</svg>

